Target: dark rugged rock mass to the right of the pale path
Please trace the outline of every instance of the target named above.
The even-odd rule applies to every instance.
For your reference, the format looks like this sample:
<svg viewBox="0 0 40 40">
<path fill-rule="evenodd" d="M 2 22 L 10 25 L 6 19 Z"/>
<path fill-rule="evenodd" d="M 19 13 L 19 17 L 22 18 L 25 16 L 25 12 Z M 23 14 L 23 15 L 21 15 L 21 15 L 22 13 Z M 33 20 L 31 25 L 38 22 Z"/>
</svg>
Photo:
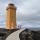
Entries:
<svg viewBox="0 0 40 40">
<path fill-rule="evenodd" d="M 25 29 L 19 34 L 20 40 L 40 40 L 40 31 Z"/>
</svg>

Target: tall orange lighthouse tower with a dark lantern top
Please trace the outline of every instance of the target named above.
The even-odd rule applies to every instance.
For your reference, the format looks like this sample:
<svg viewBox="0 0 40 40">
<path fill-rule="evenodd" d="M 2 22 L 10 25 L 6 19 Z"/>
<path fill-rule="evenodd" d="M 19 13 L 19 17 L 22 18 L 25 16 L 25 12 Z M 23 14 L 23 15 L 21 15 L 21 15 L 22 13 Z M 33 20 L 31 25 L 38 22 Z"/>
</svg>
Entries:
<svg viewBox="0 0 40 40">
<path fill-rule="evenodd" d="M 8 4 L 6 8 L 7 11 L 7 19 L 6 19 L 6 27 L 7 29 L 16 29 L 16 7 L 14 4 Z"/>
</svg>

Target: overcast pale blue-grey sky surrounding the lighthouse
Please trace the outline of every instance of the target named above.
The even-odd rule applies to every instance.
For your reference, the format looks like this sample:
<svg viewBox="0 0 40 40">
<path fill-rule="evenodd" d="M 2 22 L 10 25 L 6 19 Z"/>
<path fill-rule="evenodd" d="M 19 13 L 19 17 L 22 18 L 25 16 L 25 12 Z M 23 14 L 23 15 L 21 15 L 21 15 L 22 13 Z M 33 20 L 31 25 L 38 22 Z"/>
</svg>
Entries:
<svg viewBox="0 0 40 40">
<path fill-rule="evenodd" d="M 40 27 L 40 0 L 0 0 L 0 27 L 5 28 L 5 9 L 9 3 L 17 7 L 17 24 L 27 28 Z"/>
</svg>

